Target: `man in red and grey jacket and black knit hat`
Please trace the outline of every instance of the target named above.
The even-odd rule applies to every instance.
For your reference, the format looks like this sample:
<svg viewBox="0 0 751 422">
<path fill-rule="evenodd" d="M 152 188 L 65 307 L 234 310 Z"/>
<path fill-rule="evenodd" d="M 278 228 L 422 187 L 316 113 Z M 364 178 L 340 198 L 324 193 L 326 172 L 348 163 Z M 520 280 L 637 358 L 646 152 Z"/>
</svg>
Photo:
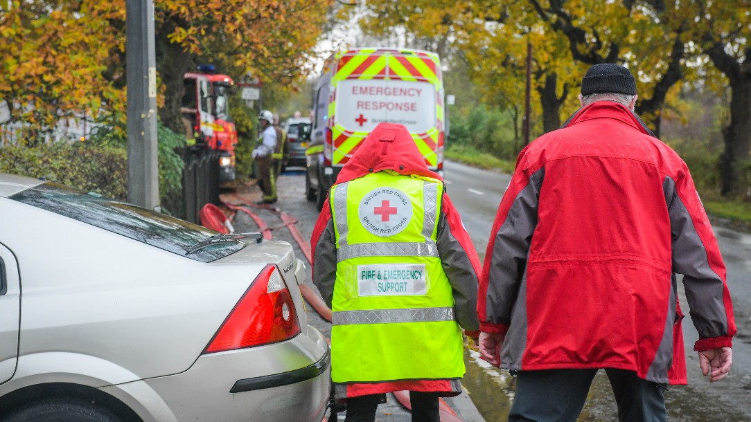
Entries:
<svg viewBox="0 0 751 422">
<path fill-rule="evenodd" d="M 620 421 L 665 421 L 686 384 L 676 274 L 710 382 L 736 332 L 725 265 L 689 169 L 633 113 L 635 79 L 590 67 L 581 109 L 521 151 L 478 292 L 480 352 L 517 373 L 509 421 L 575 421 L 605 369 Z"/>
</svg>

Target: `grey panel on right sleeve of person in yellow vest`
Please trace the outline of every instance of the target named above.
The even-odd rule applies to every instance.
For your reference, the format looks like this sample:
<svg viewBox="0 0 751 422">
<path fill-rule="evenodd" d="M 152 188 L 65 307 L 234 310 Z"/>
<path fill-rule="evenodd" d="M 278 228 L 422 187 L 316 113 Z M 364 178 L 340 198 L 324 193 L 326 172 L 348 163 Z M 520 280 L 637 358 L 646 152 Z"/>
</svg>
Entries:
<svg viewBox="0 0 751 422">
<path fill-rule="evenodd" d="M 443 271 L 454 292 L 454 310 L 459 325 L 465 330 L 479 330 L 480 322 L 477 319 L 479 274 L 476 274 L 475 268 L 472 268 L 472 262 L 469 261 L 469 256 L 460 242 L 451 234 L 451 226 L 446 223 L 443 213 L 438 218 L 436 246 Z"/>
</svg>

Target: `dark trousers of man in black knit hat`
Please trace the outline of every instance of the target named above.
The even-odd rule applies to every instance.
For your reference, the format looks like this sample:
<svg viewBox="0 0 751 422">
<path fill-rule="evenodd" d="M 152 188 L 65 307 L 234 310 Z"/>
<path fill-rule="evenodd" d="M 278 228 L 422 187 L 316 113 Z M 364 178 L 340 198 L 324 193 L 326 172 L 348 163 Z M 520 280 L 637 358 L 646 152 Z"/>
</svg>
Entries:
<svg viewBox="0 0 751 422">
<path fill-rule="evenodd" d="M 584 407 L 597 370 L 540 370 L 517 373 L 509 422 L 574 422 Z M 633 371 L 606 369 L 620 422 L 665 422 L 665 385 Z"/>
</svg>

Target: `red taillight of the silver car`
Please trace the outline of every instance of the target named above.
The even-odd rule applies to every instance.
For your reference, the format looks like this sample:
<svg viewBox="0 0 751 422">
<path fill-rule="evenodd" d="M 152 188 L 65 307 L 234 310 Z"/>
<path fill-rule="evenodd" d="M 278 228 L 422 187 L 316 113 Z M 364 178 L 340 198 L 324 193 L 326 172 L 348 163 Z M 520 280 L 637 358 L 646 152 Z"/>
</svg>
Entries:
<svg viewBox="0 0 751 422">
<path fill-rule="evenodd" d="M 204 353 L 262 346 L 300 333 L 292 296 L 276 265 L 267 265 L 237 302 Z"/>
</svg>

